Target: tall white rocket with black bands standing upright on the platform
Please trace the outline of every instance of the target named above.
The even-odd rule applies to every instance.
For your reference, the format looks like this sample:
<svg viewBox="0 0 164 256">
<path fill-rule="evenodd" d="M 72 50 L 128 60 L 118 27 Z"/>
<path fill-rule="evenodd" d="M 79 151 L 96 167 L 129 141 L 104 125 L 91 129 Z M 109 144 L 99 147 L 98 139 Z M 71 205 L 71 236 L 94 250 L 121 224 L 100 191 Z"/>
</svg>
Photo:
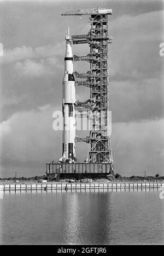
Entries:
<svg viewBox="0 0 164 256">
<path fill-rule="evenodd" d="M 60 161 L 75 162 L 75 79 L 73 75 L 72 41 L 66 39 L 65 75 L 63 77 L 63 150 Z"/>
</svg>

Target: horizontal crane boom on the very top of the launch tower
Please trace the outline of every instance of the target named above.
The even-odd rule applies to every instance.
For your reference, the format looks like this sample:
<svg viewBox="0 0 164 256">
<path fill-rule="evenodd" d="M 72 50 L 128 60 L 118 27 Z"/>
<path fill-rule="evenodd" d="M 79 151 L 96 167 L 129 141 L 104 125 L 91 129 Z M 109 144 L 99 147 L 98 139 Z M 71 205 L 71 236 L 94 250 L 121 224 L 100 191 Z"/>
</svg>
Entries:
<svg viewBox="0 0 164 256">
<path fill-rule="evenodd" d="M 104 8 L 92 8 L 92 9 L 80 9 L 80 10 L 72 10 L 67 13 L 62 13 L 62 16 L 68 15 L 90 15 L 90 14 L 107 14 L 112 15 L 112 9 L 104 9 Z"/>
</svg>

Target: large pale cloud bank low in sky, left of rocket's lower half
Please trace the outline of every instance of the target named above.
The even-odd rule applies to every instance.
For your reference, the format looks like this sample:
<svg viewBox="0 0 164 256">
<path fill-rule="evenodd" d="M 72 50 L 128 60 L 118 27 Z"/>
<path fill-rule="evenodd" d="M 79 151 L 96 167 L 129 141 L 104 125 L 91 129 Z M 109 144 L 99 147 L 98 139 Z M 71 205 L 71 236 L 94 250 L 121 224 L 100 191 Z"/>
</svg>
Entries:
<svg viewBox="0 0 164 256">
<path fill-rule="evenodd" d="M 46 161 L 60 157 L 62 140 L 61 132 L 57 134 L 52 129 L 53 108 L 42 107 L 38 113 L 34 111 L 14 114 L 7 121 L 1 123 L 1 161 L 2 164 L 20 162 L 30 165 L 30 162 L 43 164 Z M 58 151 L 56 156 L 55 152 Z"/>
</svg>

